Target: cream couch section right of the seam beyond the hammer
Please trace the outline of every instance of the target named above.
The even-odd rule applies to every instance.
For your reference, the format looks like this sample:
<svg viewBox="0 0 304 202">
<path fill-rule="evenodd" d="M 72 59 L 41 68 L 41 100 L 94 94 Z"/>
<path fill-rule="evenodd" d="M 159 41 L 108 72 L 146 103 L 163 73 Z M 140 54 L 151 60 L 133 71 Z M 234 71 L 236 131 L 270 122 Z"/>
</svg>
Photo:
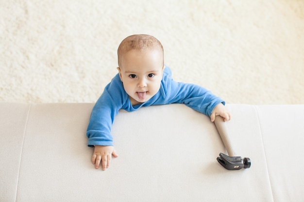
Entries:
<svg viewBox="0 0 304 202">
<path fill-rule="evenodd" d="M 274 200 L 304 201 L 304 106 L 258 106 L 257 110 Z"/>
</svg>

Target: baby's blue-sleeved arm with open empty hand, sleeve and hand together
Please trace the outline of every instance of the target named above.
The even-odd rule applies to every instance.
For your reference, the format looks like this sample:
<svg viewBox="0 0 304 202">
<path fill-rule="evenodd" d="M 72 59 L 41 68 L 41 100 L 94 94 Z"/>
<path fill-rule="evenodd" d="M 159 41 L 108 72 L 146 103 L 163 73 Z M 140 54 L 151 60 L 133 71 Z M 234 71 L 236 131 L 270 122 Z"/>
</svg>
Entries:
<svg viewBox="0 0 304 202">
<path fill-rule="evenodd" d="M 111 127 L 118 110 L 122 108 L 122 103 L 124 103 L 125 96 L 123 95 L 122 83 L 117 75 L 106 86 L 92 109 L 86 136 L 88 146 L 94 147 L 91 161 L 95 164 L 96 169 L 101 166 L 102 170 L 105 170 L 110 165 L 112 155 L 118 156 L 113 147 Z"/>
</svg>

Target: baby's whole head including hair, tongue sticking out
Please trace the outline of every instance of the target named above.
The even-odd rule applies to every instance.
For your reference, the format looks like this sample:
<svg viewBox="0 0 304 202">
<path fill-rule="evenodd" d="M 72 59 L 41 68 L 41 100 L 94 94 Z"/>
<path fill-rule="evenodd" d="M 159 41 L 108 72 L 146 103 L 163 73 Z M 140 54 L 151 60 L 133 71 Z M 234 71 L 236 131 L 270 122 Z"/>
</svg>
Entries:
<svg viewBox="0 0 304 202">
<path fill-rule="evenodd" d="M 132 105 L 148 101 L 160 88 L 164 50 L 150 35 L 132 35 L 118 47 L 118 72 Z"/>
</svg>

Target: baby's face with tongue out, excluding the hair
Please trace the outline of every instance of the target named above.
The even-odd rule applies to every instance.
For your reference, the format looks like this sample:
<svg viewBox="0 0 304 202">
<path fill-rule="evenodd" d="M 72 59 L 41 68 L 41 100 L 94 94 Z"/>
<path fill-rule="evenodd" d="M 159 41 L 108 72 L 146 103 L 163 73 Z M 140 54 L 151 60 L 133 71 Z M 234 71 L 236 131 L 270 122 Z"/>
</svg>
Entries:
<svg viewBox="0 0 304 202">
<path fill-rule="evenodd" d="M 119 76 L 132 105 L 148 101 L 159 91 L 163 61 L 159 50 L 130 50 L 121 56 Z"/>
</svg>

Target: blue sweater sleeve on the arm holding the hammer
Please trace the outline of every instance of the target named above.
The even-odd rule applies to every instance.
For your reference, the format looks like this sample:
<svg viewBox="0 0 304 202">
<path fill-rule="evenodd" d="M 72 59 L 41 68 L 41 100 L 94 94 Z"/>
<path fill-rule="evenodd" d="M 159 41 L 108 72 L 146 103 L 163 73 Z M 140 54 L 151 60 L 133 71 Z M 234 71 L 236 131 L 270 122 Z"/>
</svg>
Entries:
<svg viewBox="0 0 304 202">
<path fill-rule="evenodd" d="M 169 68 L 166 68 L 168 74 L 163 79 L 165 100 L 169 103 L 183 103 L 186 106 L 210 116 L 213 109 L 225 101 L 214 95 L 207 89 L 190 83 L 176 82 L 171 78 Z"/>
</svg>

